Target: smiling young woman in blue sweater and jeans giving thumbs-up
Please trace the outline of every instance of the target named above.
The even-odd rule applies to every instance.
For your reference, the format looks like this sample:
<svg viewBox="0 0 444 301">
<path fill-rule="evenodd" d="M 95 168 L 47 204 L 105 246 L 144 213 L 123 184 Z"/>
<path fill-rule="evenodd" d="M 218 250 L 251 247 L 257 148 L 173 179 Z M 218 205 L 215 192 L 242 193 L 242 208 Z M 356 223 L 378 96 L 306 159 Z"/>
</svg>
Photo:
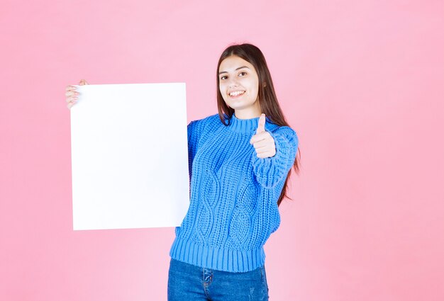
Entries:
<svg viewBox="0 0 444 301">
<path fill-rule="evenodd" d="M 218 114 L 188 125 L 191 198 L 170 249 L 168 300 L 268 300 L 263 246 L 299 172 L 298 137 L 259 48 L 227 47 L 216 82 Z M 67 86 L 68 108 L 77 95 Z"/>
</svg>

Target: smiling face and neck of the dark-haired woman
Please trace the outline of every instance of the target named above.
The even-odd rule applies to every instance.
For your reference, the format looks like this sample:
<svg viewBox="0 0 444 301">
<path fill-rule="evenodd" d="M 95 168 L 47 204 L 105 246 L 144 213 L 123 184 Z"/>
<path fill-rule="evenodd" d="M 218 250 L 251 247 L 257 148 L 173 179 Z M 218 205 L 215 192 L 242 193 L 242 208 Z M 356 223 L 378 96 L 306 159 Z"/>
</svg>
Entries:
<svg viewBox="0 0 444 301">
<path fill-rule="evenodd" d="M 252 64 L 235 55 L 223 59 L 219 66 L 219 91 L 227 106 L 235 110 L 236 118 L 260 116 L 258 88 L 259 79 Z"/>
</svg>

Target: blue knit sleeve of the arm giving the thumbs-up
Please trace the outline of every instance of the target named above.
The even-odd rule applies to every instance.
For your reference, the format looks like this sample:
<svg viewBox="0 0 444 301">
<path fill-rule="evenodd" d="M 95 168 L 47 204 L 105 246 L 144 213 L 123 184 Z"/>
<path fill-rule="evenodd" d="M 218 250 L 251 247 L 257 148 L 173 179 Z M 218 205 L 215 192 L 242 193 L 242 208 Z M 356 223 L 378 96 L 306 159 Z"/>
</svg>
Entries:
<svg viewBox="0 0 444 301">
<path fill-rule="evenodd" d="M 269 132 L 269 131 L 268 131 Z M 259 158 L 255 151 L 252 155 L 252 167 L 257 182 L 266 188 L 272 188 L 287 177 L 296 159 L 299 139 L 291 127 L 279 127 L 270 132 L 274 139 L 276 154 L 269 158 Z"/>
</svg>

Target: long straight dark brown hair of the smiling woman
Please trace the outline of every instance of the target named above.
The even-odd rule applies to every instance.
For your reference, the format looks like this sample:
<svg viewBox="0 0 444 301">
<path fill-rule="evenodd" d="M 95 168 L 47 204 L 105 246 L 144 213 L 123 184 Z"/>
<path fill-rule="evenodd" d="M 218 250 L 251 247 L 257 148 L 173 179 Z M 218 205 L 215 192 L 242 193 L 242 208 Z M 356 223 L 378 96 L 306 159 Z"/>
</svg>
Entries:
<svg viewBox="0 0 444 301">
<path fill-rule="evenodd" d="M 219 58 L 217 69 L 216 69 L 216 91 L 217 91 L 217 106 L 219 118 L 224 125 L 228 125 L 225 123 L 226 115 L 229 118 L 234 114 L 234 109 L 227 106 L 225 101 L 223 101 L 223 97 L 221 95 L 221 91 L 219 90 L 219 67 L 221 66 L 221 62 L 223 59 L 227 57 L 231 57 L 232 55 L 236 57 L 240 57 L 241 59 L 245 59 L 245 61 L 249 62 L 256 69 L 256 73 L 259 79 L 259 91 L 257 94 L 257 98 L 259 101 L 260 108 L 262 113 L 265 113 L 267 118 L 276 125 L 280 126 L 289 126 L 287 120 L 285 120 L 284 114 L 282 113 L 281 107 L 277 101 L 276 93 L 274 92 L 274 86 L 272 81 L 272 76 L 270 75 L 270 70 L 268 69 L 267 62 L 265 61 L 265 57 L 260 51 L 258 47 L 251 44 L 241 44 L 241 45 L 231 45 L 223 50 L 221 57 Z M 299 174 L 299 162 L 301 159 L 301 152 L 297 150 L 299 153 L 299 159 L 296 156 L 294 159 L 293 168 L 296 174 Z M 277 205 L 279 206 L 284 198 L 289 198 L 286 194 L 287 192 L 287 181 L 289 176 L 292 174 L 292 169 L 289 170 L 287 174 L 287 178 L 285 178 L 284 187 L 282 188 L 281 195 L 277 200 Z M 291 198 L 289 198 L 291 200 Z"/>
</svg>

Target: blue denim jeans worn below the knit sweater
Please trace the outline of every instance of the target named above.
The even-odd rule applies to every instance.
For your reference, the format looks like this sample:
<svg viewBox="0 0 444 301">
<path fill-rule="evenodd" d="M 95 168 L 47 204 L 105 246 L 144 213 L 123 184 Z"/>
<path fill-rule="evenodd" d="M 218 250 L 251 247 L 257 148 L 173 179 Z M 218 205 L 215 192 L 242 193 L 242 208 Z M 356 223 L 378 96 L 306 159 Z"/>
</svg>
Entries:
<svg viewBox="0 0 444 301">
<path fill-rule="evenodd" d="M 168 301 L 268 300 L 265 266 L 245 273 L 201 268 L 170 260 Z"/>
</svg>

